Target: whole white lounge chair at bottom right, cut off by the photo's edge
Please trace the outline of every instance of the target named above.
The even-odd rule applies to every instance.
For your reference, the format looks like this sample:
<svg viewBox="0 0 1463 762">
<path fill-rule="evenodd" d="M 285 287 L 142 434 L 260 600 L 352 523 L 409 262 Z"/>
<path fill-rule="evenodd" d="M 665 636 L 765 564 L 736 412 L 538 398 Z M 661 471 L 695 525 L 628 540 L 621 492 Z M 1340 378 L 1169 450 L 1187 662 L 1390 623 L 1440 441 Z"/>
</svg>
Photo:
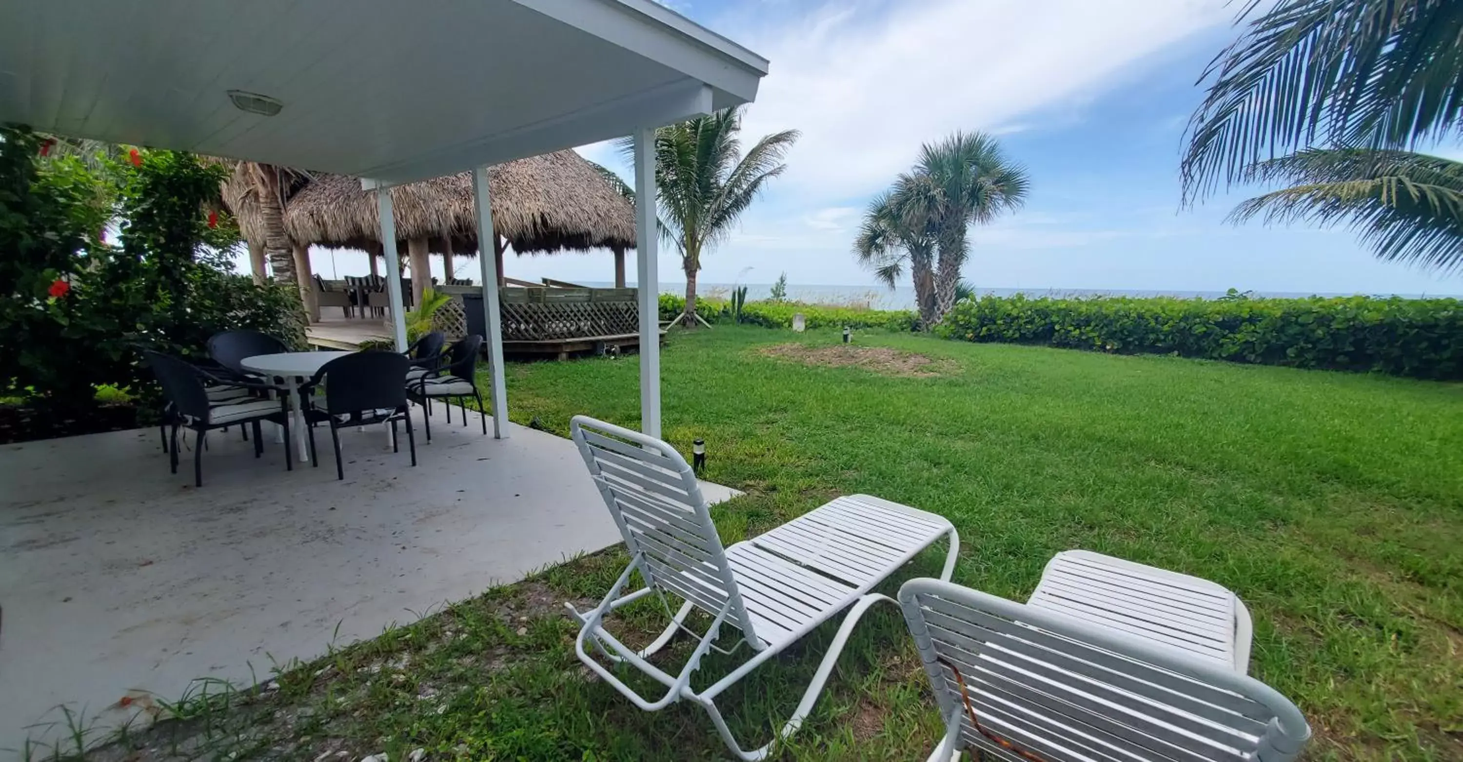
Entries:
<svg viewBox="0 0 1463 762">
<path fill-rule="evenodd" d="M 1030 603 L 911 579 L 900 606 L 945 721 L 930 762 L 1289 762 L 1311 728 L 1245 676 L 1249 614 L 1227 589 L 1059 553 Z"/>
</svg>

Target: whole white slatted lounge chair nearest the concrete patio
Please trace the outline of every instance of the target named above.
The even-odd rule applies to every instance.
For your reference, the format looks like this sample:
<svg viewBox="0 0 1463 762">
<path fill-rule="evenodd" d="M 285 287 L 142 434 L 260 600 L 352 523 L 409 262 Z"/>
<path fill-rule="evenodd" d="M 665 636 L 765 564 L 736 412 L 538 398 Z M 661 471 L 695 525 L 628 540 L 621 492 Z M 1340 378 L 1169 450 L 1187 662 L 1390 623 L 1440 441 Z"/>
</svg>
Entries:
<svg viewBox="0 0 1463 762">
<path fill-rule="evenodd" d="M 641 709 L 657 711 L 682 699 L 701 705 L 721 740 L 742 759 L 765 759 L 772 743 L 797 731 L 859 617 L 878 601 L 892 603 L 887 595 L 865 595 L 869 589 L 941 537 L 949 538 L 942 579 L 949 579 L 954 570 L 960 538 L 947 519 L 865 494 L 838 497 L 767 534 L 723 548 L 695 474 L 670 445 L 584 415 L 575 417 L 569 429 L 631 553 L 629 566 L 600 606 L 582 614 L 575 611 L 584 623 L 575 642 L 579 660 Z M 647 586 L 622 595 L 635 570 Z M 666 604 L 670 617 L 666 630 L 644 649 L 633 651 L 606 632 L 601 622 L 614 608 L 652 592 L 663 603 L 666 594 L 685 603 L 674 614 Z M 573 611 L 572 606 L 569 608 Z M 685 627 L 692 608 L 714 617 L 707 632 Z M 849 616 L 793 717 L 767 746 L 742 750 L 715 698 L 844 610 Z M 739 630 L 732 651 L 714 645 L 723 625 Z M 699 642 L 680 671 L 672 676 L 647 657 L 660 651 L 677 630 Z M 664 684 L 666 693 L 642 698 L 593 658 L 585 651 L 587 644 L 610 661 L 628 663 Z M 699 693 L 691 689 L 691 676 L 710 649 L 733 652 L 743 644 L 751 654 L 740 667 Z"/>
</svg>

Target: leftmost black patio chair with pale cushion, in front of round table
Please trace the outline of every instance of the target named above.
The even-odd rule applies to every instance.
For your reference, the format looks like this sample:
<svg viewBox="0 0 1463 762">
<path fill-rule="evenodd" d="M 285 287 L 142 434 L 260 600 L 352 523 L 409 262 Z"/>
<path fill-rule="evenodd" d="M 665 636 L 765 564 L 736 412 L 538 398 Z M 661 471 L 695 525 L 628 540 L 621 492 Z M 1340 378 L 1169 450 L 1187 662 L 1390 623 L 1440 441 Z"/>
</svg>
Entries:
<svg viewBox="0 0 1463 762">
<path fill-rule="evenodd" d="M 168 405 L 173 408 L 171 440 L 168 446 L 168 465 L 173 472 L 178 471 L 178 429 L 187 427 L 196 431 L 193 443 L 193 483 L 198 487 L 203 486 L 203 442 L 205 436 L 212 429 L 227 429 L 230 426 L 249 424 L 255 430 L 255 458 L 263 455 L 263 434 L 260 433 L 259 423 L 269 421 L 278 424 L 284 429 L 284 467 L 287 471 L 294 471 L 294 459 L 291 456 L 291 440 L 290 440 L 290 411 L 287 399 L 260 399 L 253 396 L 224 399 L 221 402 L 212 402 L 208 398 L 208 388 L 205 382 L 222 383 L 212 373 L 190 366 L 186 361 L 165 355 L 162 352 L 143 352 L 148 361 L 148 367 L 158 377 L 158 383 L 162 385 L 162 396 L 167 398 Z M 271 386 L 263 383 L 238 383 L 231 382 L 236 386 L 246 386 L 259 391 L 268 391 Z"/>
</svg>

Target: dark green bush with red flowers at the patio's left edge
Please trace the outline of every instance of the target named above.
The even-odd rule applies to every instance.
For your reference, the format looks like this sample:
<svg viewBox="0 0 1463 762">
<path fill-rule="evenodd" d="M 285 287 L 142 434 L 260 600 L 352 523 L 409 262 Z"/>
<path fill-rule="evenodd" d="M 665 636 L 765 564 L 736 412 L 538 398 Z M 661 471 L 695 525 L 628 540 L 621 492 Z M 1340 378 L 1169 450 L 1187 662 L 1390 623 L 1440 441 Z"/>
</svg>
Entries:
<svg viewBox="0 0 1463 762">
<path fill-rule="evenodd" d="M 129 151 L 94 167 L 41 158 L 44 145 L 25 129 L 0 135 L 0 392 L 78 410 L 111 386 L 146 407 L 139 347 L 200 355 L 231 328 L 303 344 L 297 290 L 231 272 L 237 227 L 209 214 L 221 165 Z"/>
</svg>

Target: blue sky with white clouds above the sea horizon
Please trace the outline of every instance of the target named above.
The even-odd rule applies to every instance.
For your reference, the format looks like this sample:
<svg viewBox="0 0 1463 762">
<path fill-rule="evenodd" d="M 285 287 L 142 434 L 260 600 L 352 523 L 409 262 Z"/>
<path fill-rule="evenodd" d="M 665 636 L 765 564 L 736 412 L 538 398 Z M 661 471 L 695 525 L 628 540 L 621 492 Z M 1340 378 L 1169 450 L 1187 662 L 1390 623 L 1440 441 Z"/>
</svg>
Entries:
<svg viewBox="0 0 1463 762">
<path fill-rule="evenodd" d="M 1463 275 L 1375 260 L 1346 230 L 1233 227 L 1248 193 L 1179 209 L 1184 124 L 1235 35 L 1225 0 L 667 0 L 771 60 L 746 142 L 803 136 L 789 171 L 702 257 L 702 282 L 873 285 L 850 244 L 869 197 L 922 142 L 999 136 L 1024 209 L 971 228 L 985 288 L 1459 294 Z M 628 174 L 609 145 L 581 154 Z M 1456 156 L 1463 156 L 1454 152 Z M 1252 189 L 1245 189 L 1252 190 Z M 661 281 L 683 282 L 661 252 Z M 315 254 L 316 272 L 332 272 Z M 364 272 L 341 253 L 339 274 Z M 440 268 L 440 263 L 436 265 Z M 508 275 L 610 278 L 604 253 L 508 257 Z M 465 271 L 475 271 L 471 265 Z"/>
</svg>

